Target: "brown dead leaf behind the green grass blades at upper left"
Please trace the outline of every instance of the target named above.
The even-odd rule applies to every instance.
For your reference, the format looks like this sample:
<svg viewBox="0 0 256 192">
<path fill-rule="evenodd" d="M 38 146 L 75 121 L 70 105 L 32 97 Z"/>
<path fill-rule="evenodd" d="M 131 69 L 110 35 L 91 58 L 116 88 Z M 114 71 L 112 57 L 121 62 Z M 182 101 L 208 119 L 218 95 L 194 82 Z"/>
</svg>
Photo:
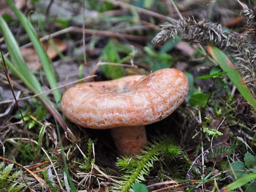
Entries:
<svg viewBox="0 0 256 192">
<path fill-rule="evenodd" d="M 59 40 L 59 39 L 53 39 L 52 41 L 55 44 L 55 47 L 58 49 L 56 50 L 54 47 L 51 46 L 51 44 L 48 41 L 43 41 L 42 42 L 42 46 L 44 48 L 44 50 L 46 50 L 46 54 L 48 55 L 48 57 L 50 58 L 50 60 L 54 59 L 57 55 L 58 52 L 62 52 L 67 48 L 67 45 Z M 39 70 L 42 66 L 40 63 L 40 60 L 36 54 L 35 49 L 31 46 L 28 48 L 22 48 L 20 50 L 24 60 L 26 61 L 28 68 L 30 70 L 32 70 L 33 72 L 36 70 Z"/>
</svg>

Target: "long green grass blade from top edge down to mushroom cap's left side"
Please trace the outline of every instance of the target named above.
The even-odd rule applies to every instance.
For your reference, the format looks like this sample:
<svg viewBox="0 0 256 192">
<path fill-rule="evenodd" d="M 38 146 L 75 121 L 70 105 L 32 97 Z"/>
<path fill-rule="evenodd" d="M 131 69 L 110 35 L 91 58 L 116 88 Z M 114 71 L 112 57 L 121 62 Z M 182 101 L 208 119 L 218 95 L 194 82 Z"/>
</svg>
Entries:
<svg viewBox="0 0 256 192">
<path fill-rule="evenodd" d="M 15 13 L 17 18 L 19 19 L 23 28 L 26 30 L 26 32 L 28 34 L 28 37 L 29 37 L 30 41 L 32 42 L 33 47 L 34 47 L 34 49 L 35 49 L 35 51 L 36 51 L 36 53 L 39 57 L 39 60 L 42 64 L 42 67 L 44 68 L 44 72 L 45 72 L 47 80 L 50 84 L 51 89 L 58 87 L 55 75 L 53 73 L 53 70 L 52 70 L 52 67 L 51 67 L 51 64 L 50 64 L 50 60 L 49 60 L 46 52 L 44 51 L 42 45 L 40 44 L 40 41 L 37 38 L 36 32 L 35 32 L 32 24 L 30 23 L 30 21 L 27 20 L 25 15 L 23 15 L 23 13 L 20 12 L 20 10 L 18 10 L 16 8 L 16 6 L 12 2 L 12 0 L 6 0 L 6 2 L 9 4 L 12 11 Z M 59 103 L 60 99 L 61 99 L 60 91 L 59 90 L 54 90 L 52 93 L 53 93 L 55 102 Z"/>
</svg>

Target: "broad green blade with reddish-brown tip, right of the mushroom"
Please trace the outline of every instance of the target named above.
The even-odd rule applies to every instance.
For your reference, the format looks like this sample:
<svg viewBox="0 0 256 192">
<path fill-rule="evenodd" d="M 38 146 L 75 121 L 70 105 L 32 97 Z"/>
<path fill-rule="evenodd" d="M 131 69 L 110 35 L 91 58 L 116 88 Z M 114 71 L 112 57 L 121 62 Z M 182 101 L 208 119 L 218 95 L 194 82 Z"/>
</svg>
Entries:
<svg viewBox="0 0 256 192">
<path fill-rule="evenodd" d="M 224 72 L 228 72 L 227 76 L 232 81 L 232 83 L 236 86 L 238 91 L 243 95 L 244 99 L 247 102 L 250 102 L 254 110 L 256 111 L 256 100 L 250 93 L 247 85 L 244 82 L 243 77 L 236 70 L 235 66 L 228 59 L 228 57 L 217 47 L 206 45 L 205 48 L 210 53 L 212 58 L 220 65 Z"/>
</svg>

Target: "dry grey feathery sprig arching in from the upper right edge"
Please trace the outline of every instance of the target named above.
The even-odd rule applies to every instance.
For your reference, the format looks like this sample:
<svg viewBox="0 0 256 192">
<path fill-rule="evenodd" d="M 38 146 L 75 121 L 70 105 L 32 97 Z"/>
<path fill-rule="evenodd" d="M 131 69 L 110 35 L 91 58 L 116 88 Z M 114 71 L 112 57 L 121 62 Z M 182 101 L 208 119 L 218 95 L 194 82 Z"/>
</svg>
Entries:
<svg viewBox="0 0 256 192">
<path fill-rule="evenodd" d="M 240 34 L 224 31 L 220 23 L 197 21 L 194 18 L 184 18 L 179 23 L 160 25 L 162 29 L 152 43 L 163 44 L 168 38 L 175 38 L 178 34 L 183 41 L 197 44 L 213 44 L 216 47 L 229 51 L 236 59 L 234 65 L 244 78 L 253 97 L 256 98 L 256 9 L 243 7 L 242 14 L 247 20 L 245 29 L 248 32 Z"/>
</svg>

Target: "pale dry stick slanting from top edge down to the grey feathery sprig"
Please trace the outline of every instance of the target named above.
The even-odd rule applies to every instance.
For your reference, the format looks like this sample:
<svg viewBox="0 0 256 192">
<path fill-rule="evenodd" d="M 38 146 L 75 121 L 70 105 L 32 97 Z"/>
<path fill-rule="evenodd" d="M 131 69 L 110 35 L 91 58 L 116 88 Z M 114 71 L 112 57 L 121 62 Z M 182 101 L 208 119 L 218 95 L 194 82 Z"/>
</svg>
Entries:
<svg viewBox="0 0 256 192">
<path fill-rule="evenodd" d="M 137 12 L 145 13 L 147 15 L 151 15 L 151 16 L 154 16 L 154 17 L 157 17 L 157 18 L 160 18 L 160 19 L 170 21 L 170 22 L 179 23 L 178 20 L 173 19 L 171 17 L 164 16 L 162 14 L 159 14 L 159 13 L 156 13 L 156 12 L 153 12 L 153 11 L 149 11 L 147 9 L 143 9 L 143 8 L 140 8 L 140 7 L 136 7 L 134 5 L 130 5 L 130 4 L 127 4 L 127 3 L 124 3 L 124 2 L 121 2 L 121 1 L 116 1 L 116 0 L 104 0 L 104 1 L 110 2 L 114 5 L 119 5 L 119 6 L 124 7 L 124 8 L 135 9 Z"/>
</svg>

